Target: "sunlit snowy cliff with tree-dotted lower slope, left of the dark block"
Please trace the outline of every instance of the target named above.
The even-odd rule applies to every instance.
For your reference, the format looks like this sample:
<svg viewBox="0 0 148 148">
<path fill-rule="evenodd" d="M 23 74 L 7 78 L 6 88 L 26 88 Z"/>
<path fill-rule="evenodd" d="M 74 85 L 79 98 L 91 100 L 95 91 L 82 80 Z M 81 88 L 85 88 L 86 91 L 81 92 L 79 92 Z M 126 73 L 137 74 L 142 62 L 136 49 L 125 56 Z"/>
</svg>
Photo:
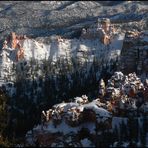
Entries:
<svg viewBox="0 0 148 148">
<path fill-rule="evenodd" d="M 98 38 L 93 40 L 49 38 L 46 39 L 46 42 L 44 38 L 39 40 L 14 34 L 7 38 L 7 43 L 4 43 L 1 51 L 1 79 L 11 83 L 23 78 L 36 81 L 36 79 L 45 79 L 46 76 L 52 74 L 60 75 L 60 70 L 65 71 L 65 75 L 69 73 L 69 76 L 75 71 L 80 73 L 86 71 L 84 77 L 88 77 L 91 75 L 90 71 L 94 62 L 98 66 L 96 79 L 99 79 L 102 67 L 111 66 L 118 59 L 124 33 L 118 33 L 108 46 L 102 44 Z M 65 65 L 64 68 L 62 64 Z M 67 75 L 66 77 L 68 77 Z M 70 81 L 69 78 L 68 81 Z M 11 92 L 8 91 L 8 93 Z M 16 92 L 10 95 L 15 94 Z"/>
</svg>

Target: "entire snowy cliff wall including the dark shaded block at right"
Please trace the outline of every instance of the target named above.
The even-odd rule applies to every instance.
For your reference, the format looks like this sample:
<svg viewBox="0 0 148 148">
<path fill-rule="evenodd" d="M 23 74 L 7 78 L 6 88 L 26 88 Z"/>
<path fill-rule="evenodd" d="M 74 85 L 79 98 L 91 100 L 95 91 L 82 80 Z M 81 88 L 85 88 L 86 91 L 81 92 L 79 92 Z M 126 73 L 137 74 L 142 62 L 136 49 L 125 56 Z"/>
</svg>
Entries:
<svg viewBox="0 0 148 148">
<path fill-rule="evenodd" d="M 125 36 L 125 37 L 124 37 Z M 91 72 L 95 71 L 96 80 L 100 79 L 100 75 L 104 68 L 108 69 L 108 74 L 113 73 L 113 64 L 116 63 L 117 69 L 123 73 L 136 72 L 139 75 L 147 75 L 147 43 L 148 34 L 144 32 L 123 32 L 117 31 L 117 35 L 111 44 L 104 45 L 98 38 L 91 39 L 58 39 L 55 38 L 31 38 L 17 37 L 18 39 L 10 39 L 8 37 L 7 44 L 4 43 L 1 51 L 1 80 L 10 82 L 12 85 L 23 79 L 30 81 L 30 87 L 33 85 L 32 80 L 38 83 L 39 79 L 45 80 L 51 75 L 60 76 L 64 74 L 71 86 L 72 74 L 74 72 L 84 73 L 84 78 L 91 76 Z M 19 42 L 19 46 L 14 45 Z M 15 47 L 13 47 L 15 46 Z M 18 59 L 21 50 L 23 57 Z M 118 61 L 117 61 L 118 60 Z M 95 63 L 95 64 L 94 64 Z M 56 68 L 55 68 L 56 66 Z M 64 66 L 64 67 L 63 67 Z M 95 66 L 97 66 L 97 69 Z M 81 78 L 83 81 L 83 78 Z M 4 81 L 1 81 L 4 83 Z M 56 82 L 58 89 L 58 80 Z M 71 87 L 69 84 L 69 87 Z M 39 87 L 39 89 L 38 89 Z M 42 90 L 38 85 L 37 92 Z M 6 86 L 6 91 L 10 96 L 16 95 L 16 87 Z M 27 89 L 27 88 L 26 88 Z M 59 88 L 60 89 L 60 88 Z M 25 88 L 25 94 L 30 97 Z M 39 91 L 39 92 L 40 92 Z"/>
</svg>

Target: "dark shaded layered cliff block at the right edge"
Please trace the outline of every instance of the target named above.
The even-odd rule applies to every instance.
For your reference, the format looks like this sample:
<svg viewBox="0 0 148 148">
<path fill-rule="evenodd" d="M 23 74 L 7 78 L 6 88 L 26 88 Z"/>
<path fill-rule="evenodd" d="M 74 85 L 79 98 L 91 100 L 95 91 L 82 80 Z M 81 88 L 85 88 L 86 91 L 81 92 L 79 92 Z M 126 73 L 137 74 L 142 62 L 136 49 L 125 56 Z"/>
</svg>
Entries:
<svg viewBox="0 0 148 148">
<path fill-rule="evenodd" d="M 147 31 L 127 32 L 121 53 L 120 69 L 122 69 L 126 74 L 135 71 L 139 75 L 147 75 L 147 50 Z"/>
</svg>

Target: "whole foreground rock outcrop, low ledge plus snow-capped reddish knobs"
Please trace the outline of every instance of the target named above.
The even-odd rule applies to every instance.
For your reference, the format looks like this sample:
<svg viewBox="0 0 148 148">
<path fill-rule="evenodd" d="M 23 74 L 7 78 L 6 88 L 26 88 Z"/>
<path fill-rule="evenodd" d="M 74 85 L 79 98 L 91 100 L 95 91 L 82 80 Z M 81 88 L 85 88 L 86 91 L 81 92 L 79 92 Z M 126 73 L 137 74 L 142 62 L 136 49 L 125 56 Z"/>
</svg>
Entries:
<svg viewBox="0 0 148 148">
<path fill-rule="evenodd" d="M 103 80 L 100 84 L 102 83 Z M 83 147 L 84 139 L 89 141 L 87 146 L 101 146 L 101 139 L 97 140 L 97 136 L 103 136 L 105 131 L 112 135 L 115 130 L 119 130 L 121 137 L 121 127 L 125 126 L 125 132 L 130 133 L 128 128 L 131 126 L 131 118 L 141 120 L 136 127 L 141 137 L 141 124 L 146 124 L 142 117 L 148 115 L 146 83 L 143 84 L 135 73 L 124 75 L 122 72 L 115 72 L 104 91 L 102 98 L 91 102 L 83 95 L 74 98 L 73 102 L 56 104 L 46 113 L 42 111 L 41 124 L 34 127 L 32 133 L 28 131 L 26 134 L 27 146 L 35 146 L 36 143 L 39 146 L 57 146 L 60 143 L 63 147 Z M 62 137 L 69 140 L 63 141 Z M 108 144 L 116 145 L 115 140 L 117 139 L 112 139 Z"/>
</svg>

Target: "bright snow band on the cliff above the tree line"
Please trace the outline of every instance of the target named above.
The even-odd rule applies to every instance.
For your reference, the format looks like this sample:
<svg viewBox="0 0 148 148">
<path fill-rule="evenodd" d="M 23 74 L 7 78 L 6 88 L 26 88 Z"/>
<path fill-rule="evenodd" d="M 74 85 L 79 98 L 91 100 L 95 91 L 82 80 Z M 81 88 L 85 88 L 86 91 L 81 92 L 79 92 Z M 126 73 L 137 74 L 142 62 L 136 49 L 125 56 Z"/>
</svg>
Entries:
<svg viewBox="0 0 148 148">
<path fill-rule="evenodd" d="M 49 39 L 47 43 L 41 43 L 26 36 L 18 36 L 12 33 L 5 40 L 1 51 L 1 75 L 11 73 L 6 72 L 6 65 L 12 67 L 13 63 L 18 64 L 22 60 L 44 60 L 52 59 L 53 62 L 58 58 L 78 59 L 84 63 L 88 61 L 92 63 L 94 57 L 103 60 L 106 57 L 106 63 L 111 59 L 116 59 L 121 52 L 124 34 L 117 36 L 110 46 L 106 46 L 99 39 Z"/>
</svg>

